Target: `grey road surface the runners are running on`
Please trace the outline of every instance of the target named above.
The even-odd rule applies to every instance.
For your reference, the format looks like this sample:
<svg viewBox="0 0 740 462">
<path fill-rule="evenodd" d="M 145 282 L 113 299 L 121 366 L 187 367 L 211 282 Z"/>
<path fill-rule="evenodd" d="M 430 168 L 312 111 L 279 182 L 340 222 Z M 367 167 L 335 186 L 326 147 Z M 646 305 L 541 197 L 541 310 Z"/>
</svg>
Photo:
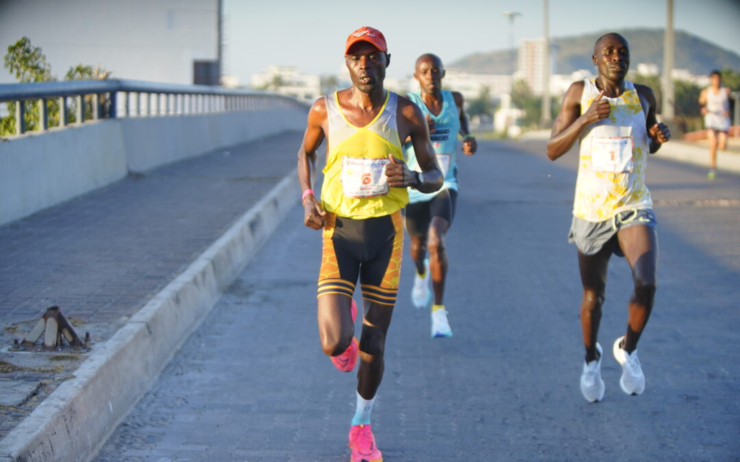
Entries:
<svg viewBox="0 0 740 462">
<path fill-rule="evenodd" d="M 709 182 L 693 166 L 650 163 L 660 261 L 639 344 L 647 389 L 622 393 L 608 353 L 605 399 L 588 404 L 576 251 L 565 239 L 575 159 L 519 149 L 542 143 L 484 142 L 460 160 L 448 234 L 453 338 L 428 338 L 404 262 L 373 412 L 385 460 L 738 460 L 740 177 Z M 301 214 L 224 293 L 98 461 L 349 459 L 355 378 L 320 350 L 320 234 Z M 628 265 L 613 257 L 605 353 L 624 333 L 629 293 Z"/>
</svg>

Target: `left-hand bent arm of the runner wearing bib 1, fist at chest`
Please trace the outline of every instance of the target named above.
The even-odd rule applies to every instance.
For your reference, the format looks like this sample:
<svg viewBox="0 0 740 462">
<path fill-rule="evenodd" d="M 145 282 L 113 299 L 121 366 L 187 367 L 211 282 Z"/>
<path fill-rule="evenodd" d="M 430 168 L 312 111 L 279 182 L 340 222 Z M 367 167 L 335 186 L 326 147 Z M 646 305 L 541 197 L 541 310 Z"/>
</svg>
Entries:
<svg viewBox="0 0 740 462">
<path fill-rule="evenodd" d="M 576 143 L 579 135 L 591 123 L 609 117 L 609 101 L 602 99 L 602 91 L 593 100 L 588 110 L 581 114 L 581 96 L 583 95 L 583 82 L 573 82 L 565 92 L 560 106 L 560 113 L 553 123 L 548 141 L 548 157 L 556 160 L 565 154 Z"/>
</svg>

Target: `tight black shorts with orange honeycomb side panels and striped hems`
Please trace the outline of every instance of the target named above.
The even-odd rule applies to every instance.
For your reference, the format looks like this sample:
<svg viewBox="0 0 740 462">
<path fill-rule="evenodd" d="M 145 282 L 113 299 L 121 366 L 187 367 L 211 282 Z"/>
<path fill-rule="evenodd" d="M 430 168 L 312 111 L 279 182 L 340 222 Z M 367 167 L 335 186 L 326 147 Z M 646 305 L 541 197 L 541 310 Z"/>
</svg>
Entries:
<svg viewBox="0 0 740 462">
<path fill-rule="evenodd" d="M 318 296 L 351 297 L 357 278 L 363 299 L 394 305 L 403 256 L 401 212 L 352 220 L 326 214 Z"/>
</svg>

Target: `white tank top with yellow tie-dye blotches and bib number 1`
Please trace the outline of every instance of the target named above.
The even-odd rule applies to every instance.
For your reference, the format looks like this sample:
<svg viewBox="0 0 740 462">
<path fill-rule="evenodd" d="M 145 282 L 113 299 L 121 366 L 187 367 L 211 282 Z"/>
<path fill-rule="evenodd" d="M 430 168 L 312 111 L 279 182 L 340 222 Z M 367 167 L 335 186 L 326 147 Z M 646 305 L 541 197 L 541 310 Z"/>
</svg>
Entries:
<svg viewBox="0 0 740 462">
<path fill-rule="evenodd" d="M 596 79 L 584 81 L 581 114 L 599 95 Z M 592 123 L 579 138 L 580 158 L 573 215 L 590 222 L 610 220 L 633 208 L 652 208 L 645 186 L 650 153 L 645 112 L 632 82 L 609 101 L 609 117 Z"/>
</svg>

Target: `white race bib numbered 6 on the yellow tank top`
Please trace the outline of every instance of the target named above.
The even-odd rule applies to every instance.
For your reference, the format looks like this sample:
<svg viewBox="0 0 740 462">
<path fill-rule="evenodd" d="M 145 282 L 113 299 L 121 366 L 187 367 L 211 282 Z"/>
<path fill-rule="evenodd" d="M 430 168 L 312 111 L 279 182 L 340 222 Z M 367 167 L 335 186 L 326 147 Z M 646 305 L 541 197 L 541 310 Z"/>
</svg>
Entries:
<svg viewBox="0 0 740 462">
<path fill-rule="evenodd" d="M 342 157 L 342 190 L 346 197 L 376 197 L 388 194 L 388 159 Z"/>
</svg>

